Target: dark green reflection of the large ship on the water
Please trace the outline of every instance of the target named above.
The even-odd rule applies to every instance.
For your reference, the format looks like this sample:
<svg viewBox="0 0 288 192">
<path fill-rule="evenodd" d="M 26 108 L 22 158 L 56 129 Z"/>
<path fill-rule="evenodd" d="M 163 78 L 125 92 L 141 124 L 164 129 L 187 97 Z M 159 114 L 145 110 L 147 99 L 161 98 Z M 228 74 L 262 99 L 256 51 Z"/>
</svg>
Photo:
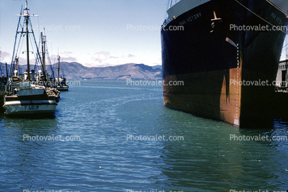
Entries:
<svg viewBox="0 0 288 192">
<path fill-rule="evenodd" d="M 274 120 L 274 129 L 235 129 L 223 122 L 189 114 L 179 118 L 171 113 L 167 120 L 171 123 L 170 131 L 184 135 L 185 141 L 164 143 L 165 184 L 181 191 L 284 191 L 287 188 L 283 182 L 288 179 L 287 141 L 230 140 L 231 135 L 287 136 L 287 122 Z"/>
</svg>

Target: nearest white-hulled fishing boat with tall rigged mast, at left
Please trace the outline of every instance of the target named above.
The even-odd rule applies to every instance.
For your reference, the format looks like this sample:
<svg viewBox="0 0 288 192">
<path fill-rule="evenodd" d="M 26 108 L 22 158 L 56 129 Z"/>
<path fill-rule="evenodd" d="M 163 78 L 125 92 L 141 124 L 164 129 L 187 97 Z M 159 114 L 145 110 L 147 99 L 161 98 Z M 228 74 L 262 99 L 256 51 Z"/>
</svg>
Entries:
<svg viewBox="0 0 288 192">
<path fill-rule="evenodd" d="M 17 26 L 17 33 L 15 37 L 10 77 L 6 86 L 6 95 L 4 96 L 3 108 L 5 110 L 5 114 L 8 116 L 25 116 L 28 114 L 34 114 L 38 116 L 54 114 L 58 98 L 56 98 L 56 95 L 50 94 L 50 92 L 47 91 L 47 88 L 45 86 L 37 85 L 37 83 L 35 83 L 34 70 L 31 70 L 30 72 L 29 36 L 30 34 L 32 34 L 37 50 L 36 61 L 40 61 L 43 69 L 43 74 L 39 74 L 39 80 L 46 81 L 45 66 L 43 65 L 43 60 L 41 58 L 41 54 L 39 53 L 39 48 L 37 46 L 34 32 L 32 30 L 32 24 L 30 21 L 30 17 L 34 15 L 30 15 L 27 0 L 25 1 L 25 9 L 23 11 L 21 9 L 21 14 L 19 14 L 18 16 L 19 23 Z M 22 28 L 20 28 L 21 17 L 24 18 L 25 23 Z M 25 72 L 22 76 L 17 74 L 17 66 L 19 64 L 19 49 L 17 47 L 17 37 L 19 34 L 20 40 L 21 37 L 25 36 L 27 48 L 27 72 Z"/>
</svg>

